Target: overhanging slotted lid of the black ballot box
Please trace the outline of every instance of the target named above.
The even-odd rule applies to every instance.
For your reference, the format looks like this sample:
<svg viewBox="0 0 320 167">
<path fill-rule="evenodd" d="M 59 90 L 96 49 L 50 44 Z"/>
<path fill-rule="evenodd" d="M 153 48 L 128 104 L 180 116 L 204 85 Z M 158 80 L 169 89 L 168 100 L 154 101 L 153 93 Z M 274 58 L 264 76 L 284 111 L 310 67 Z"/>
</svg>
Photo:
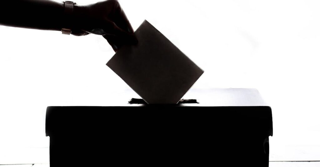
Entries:
<svg viewBox="0 0 320 167">
<path fill-rule="evenodd" d="M 125 101 L 126 96 L 131 95 L 119 96 Z M 226 129 L 243 135 L 273 135 L 271 107 L 255 89 L 203 89 L 189 91 L 186 96 L 199 99 L 200 103 L 130 105 L 118 102 L 106 107 L 47 107 L 46 135 L 101 135 L 116 129 L 150 130 L 155 126 L 177 124 L 212 128 L 216 133 Z"/>
</svg>

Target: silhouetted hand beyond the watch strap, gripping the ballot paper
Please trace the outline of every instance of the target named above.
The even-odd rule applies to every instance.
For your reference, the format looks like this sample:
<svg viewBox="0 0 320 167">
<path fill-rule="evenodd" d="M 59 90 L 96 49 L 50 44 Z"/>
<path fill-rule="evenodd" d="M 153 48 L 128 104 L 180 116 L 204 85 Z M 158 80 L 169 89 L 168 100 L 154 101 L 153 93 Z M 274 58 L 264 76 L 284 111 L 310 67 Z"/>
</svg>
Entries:
<svg viewBox="0 0 320 167">
<path fill-rule="evenodd" d="M 107 0 L 85 6 L 74 6 L 71 34 L 102 35 L 116 52 L 125 44 L 137 44 L 132 26 L 117 0 Z"/>
</svg>

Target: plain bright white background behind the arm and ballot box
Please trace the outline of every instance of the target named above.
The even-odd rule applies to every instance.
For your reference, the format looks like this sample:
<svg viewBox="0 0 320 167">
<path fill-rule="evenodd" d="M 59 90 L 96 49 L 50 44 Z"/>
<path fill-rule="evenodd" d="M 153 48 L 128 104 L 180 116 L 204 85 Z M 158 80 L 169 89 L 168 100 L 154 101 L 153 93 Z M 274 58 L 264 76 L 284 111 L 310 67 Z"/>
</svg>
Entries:
<svg viewBox="0 0 320 167">
<path fill-rule="evenodd" d="M 134 29 L 148 20 L 204 69 L 193 88 L 260 91 L 273 112 L 271 161 L 320 159 L 320 1 L 119 2 Z M 101 36 L 0 26 L 0 162 L 49 147 L 47 106 L 104 106 L 129 89 L 105 65 L 113 54 Z"/>
</svg>

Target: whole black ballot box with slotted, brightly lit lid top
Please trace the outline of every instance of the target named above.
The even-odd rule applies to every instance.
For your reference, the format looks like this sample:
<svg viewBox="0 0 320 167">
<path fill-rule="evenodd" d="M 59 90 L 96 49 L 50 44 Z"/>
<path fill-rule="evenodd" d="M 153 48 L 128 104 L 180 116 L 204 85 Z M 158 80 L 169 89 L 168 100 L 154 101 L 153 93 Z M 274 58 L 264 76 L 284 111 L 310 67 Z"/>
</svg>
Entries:
<svg viewBox="0 0 320 167">
<path fill-rule="evenodd" d="M 47 107 L 51 167 L 268 166 L 271 107 L 257 90 L 190 93 L 199 103 Z"/>
</svg>

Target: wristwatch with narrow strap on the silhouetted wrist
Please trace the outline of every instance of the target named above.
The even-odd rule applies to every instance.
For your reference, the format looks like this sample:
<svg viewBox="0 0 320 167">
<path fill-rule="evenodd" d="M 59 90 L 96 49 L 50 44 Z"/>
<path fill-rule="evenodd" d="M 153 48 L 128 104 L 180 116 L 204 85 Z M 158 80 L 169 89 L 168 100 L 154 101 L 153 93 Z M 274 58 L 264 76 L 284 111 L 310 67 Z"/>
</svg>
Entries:
<svg viewBox="0 0 320 167">
<path fill-rule="evenodd" d="M 71 33 L 71 22 L 72 22 L 72 13 L 73 6 L 76 4 L 72 1 L 63 1 L 64 4 L 64 17 L 62 22 L 62 34 L 70 35 Z"/>
</svg>

